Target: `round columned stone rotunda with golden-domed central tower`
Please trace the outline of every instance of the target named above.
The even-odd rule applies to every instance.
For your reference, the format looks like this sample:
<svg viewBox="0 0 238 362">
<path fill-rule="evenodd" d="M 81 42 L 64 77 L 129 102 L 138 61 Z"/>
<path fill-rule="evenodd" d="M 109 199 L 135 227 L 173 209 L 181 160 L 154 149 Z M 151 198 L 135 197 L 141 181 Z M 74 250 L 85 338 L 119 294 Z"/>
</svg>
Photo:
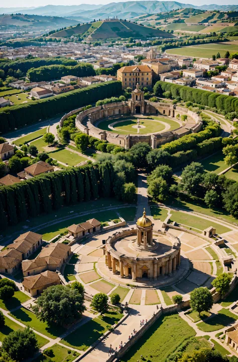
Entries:
<svg viewBox="0 0 238 362">
<path fill-rule="evenodd" d="M 113 274 L 133 280 L 163 279 L 180 265 L 180 240 L 153 230 L 146 216 L 138 219 L 136 229 L 116 232 L 105 242 L 105 264 Z"/>
</svg>

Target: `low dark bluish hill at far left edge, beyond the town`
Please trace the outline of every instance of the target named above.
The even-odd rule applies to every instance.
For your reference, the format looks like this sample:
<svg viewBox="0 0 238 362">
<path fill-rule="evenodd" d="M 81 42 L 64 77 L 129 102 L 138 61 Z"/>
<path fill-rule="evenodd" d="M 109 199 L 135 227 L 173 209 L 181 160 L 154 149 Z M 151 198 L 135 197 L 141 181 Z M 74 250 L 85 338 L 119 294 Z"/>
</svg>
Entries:
<svg viewBox="0 0 238 362">
<path fill-rule="evenodd" d="M 0 29 L 21 27 L 26 29 L 37 28 L 39 30 L 60 29 L 70 25 L 78 24 L 77 20 L 65 19 L 61 17 L 40 16 L 40 15 L 0 15 Z"/>
</svg>

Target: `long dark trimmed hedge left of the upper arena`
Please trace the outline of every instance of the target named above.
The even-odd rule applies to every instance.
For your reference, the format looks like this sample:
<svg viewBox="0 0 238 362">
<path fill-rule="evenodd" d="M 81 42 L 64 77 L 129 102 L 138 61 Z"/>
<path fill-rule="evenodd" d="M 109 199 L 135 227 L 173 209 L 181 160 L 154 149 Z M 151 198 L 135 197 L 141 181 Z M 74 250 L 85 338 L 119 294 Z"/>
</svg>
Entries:
<svg viewBox="0 0 238 362">
<path fill-rule="evenodd" d="M 5 107 L 0 110 L 0 132 L 35 123 L 41 119 L 55 117 L 59 113 L 92 104 L 101 98 L 112 97 L 122 92 L 122 83 L 105 82 L 74 90 L 57 97 L 34 101 L 20 106 Z"/>
</svg>

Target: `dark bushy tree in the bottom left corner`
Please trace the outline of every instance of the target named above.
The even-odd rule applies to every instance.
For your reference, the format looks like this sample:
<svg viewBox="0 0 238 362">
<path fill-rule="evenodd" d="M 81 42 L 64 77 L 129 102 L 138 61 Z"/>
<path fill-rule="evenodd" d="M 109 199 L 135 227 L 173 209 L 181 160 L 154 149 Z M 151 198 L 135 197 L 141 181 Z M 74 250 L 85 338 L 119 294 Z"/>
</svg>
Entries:
<svg viewBox="0 0 238 362">
<path fill-rule="evenodd" d="M 39 348 L 35 333 L 29 327 L 10 332 L 3 340 L 2 348 L 11 358 L 22 361 L 32 357 Z"/>
</svg>

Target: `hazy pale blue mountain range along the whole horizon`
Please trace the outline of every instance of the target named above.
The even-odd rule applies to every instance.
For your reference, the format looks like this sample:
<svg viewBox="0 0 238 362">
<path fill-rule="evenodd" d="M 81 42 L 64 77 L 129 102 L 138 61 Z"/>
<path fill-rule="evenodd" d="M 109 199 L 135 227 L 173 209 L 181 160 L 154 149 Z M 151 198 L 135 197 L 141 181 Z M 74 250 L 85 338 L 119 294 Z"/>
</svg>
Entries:
<svg viewBox="0 0 238 362">
<path fill-rule="evenodd" d="M 143 14 L 158 14 L 184 8 L 200 9 L 200 10 L 220 10 L 220 11 L 238 11 L 238 5 L 202 5 L 195 6 L 191 4 L 183 4 L 176 1 L 127 1 L 122 3 L 110 3 L 107 5 L 47 5 L 37 8 L 28 8 L 13 10 L 14 8 L 0 8 L 0 13 L 22 14 L 29 15 L 44 15 L 44 16 L 81 16 L 86 19 L 106 19 L 108 17 L 126 18 L 137 17 Z M 16 8 L 18 9 L 18 8 Z"/>
</svg>

